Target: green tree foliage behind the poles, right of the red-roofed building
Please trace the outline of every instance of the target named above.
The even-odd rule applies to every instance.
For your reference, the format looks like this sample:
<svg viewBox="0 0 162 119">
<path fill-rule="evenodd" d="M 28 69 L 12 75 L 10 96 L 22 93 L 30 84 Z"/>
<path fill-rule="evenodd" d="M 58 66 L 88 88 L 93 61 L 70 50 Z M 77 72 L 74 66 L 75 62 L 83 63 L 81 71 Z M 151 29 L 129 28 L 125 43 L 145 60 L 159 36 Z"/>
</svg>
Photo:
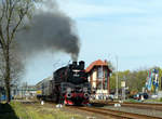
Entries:
<svg viewBox="0 0 162 119">
<path fill-rule="evenodd" d="M 150 69 L 159 69 L 159 85 L 161 84 L 161 77 L 162 77 L 162 69 L 160 67 L 152 67 Z M 134 92 L 141 92 L 143 87 L 145 87 L 146 78 L 148 76 L 149 69 L 138 69 L 134 71 L 124 70 L 118 72 L 118 79 L 119 79 L 119 89 L 121 88 L 121 81 L 126 81 L 126 87 L 129 87 L 130 91 Z M 110 89 L 116 89 L 116 71 L 112 72 L 110 77 Z M 161 90 L 161 88 L 159 88 Z"/>
</svg>

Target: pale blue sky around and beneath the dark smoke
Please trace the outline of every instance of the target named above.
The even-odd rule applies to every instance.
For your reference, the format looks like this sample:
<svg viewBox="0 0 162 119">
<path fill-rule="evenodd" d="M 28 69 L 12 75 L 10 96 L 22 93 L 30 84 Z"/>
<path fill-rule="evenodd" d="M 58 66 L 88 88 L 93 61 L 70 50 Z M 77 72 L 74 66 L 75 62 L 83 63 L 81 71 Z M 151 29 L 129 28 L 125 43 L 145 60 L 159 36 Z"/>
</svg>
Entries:
<svg viewBox="0 0 162 119">
<path fill-rule="evenodd" d="M 79 60 L 85 61 L 86 66 L 98 58 L 116 65 L 118 56 L 119 70 L 161 67 L 162 0 L 57 0 L 57 3 L 75 22 L 81 41 Z M 35 84 L 69 60 L 64 53 L 45 52 L 26 62 L 24 79 Z"/>
</svg>

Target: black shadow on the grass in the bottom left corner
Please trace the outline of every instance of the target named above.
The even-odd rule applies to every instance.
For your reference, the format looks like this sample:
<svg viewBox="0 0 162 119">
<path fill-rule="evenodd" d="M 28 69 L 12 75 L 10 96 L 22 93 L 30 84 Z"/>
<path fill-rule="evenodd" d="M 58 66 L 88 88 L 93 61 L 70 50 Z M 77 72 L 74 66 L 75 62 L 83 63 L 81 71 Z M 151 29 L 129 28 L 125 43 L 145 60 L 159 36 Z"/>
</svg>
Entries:
<svg viewBox="0 0 162 119">
<path fill-rule="evenodd" d="M 18 119 L 10 104 L 0 103 L 0 119 Z"/>
</svg>

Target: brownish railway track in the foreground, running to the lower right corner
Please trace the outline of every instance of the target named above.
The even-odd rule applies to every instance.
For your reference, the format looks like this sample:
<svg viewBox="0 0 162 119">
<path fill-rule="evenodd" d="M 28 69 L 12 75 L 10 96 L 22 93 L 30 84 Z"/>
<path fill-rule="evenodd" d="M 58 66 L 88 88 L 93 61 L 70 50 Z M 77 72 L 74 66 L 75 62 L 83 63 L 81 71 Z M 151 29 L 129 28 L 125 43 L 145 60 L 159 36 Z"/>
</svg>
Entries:
<svg viewBox="0 0 162 119">
<path fill-rule="evenodd" d="M 72 108 L 93 113 L 93 114 L 99 114 L 99 115 L 112 117 L 116 119 L 162 119 L 160 117 L 125 113 L 125 111 L 105 109 L 105 108 L 95 108 L 95 107 L 93 108 L 92 107 L 72 107 Z"/>
</svg>

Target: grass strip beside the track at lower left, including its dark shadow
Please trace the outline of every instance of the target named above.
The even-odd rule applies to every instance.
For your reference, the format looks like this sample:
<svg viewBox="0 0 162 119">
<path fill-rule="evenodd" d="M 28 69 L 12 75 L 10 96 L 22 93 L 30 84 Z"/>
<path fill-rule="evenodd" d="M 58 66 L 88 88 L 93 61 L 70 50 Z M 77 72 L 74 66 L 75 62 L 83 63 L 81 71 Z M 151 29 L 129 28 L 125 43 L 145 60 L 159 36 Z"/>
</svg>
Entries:
<svg viewBox="0 0 162 119">
<path fill-rule="evenodd" d="M 5 107 L 5 108 L 4 108 Z M 12 102 L 3 104 L 0 109 L 0 119 L 84 119 L 83 117 L 40 104 L 21 104 Z"/>
</svg>

